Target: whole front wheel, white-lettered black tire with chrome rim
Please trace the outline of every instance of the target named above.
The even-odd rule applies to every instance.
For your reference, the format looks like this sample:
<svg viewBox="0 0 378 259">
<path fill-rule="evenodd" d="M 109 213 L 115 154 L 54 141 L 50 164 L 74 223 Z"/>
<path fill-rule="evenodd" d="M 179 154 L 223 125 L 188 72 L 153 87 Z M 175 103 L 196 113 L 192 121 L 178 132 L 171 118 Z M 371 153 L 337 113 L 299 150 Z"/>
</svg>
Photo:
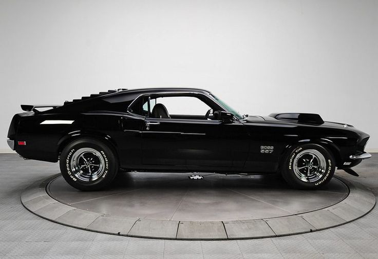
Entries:
<svg viewBox="0 0 378 259">
<path fill-rule="evenodd" d="M 281 174 L 286 182 L 297 189 L 316 189 L 325 186 L 335 172 L 335 159 L 323 146 L 303 144 L 291 148 Z"/>
</svg>

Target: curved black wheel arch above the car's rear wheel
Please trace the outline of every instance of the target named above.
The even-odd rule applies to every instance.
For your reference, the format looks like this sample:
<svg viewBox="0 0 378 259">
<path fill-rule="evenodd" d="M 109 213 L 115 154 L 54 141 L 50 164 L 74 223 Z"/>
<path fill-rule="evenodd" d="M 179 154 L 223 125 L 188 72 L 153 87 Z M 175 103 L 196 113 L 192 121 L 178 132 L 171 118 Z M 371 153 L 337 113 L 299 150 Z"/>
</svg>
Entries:
<svg viewBox="0 0 378 259">
<path fill-rule="evenodd" d="M 71 132 L 65 136 L 63 136 L 59 141 L 58 141 L 58 156 L 62 153 L 62 150 L 64 149 L 65 146 L 67 146 L 69 143 L 71 143 L 74 140 L 78 139 L 83 139 L 83 138 L 92 138 L 92 139 L 97 139 L 100 141 L 105 142 L 108 144 L 108 146 L 113 150 L 113 152 L 116 155 L 116 159 L 119 163 L 119 154 L 118 154 L 118 148 L 117 144 L 112 139 L 110 136 L 98 133 L 98 132 L 82 132 L 82 131 L 75 131 Z"/>
</svg>

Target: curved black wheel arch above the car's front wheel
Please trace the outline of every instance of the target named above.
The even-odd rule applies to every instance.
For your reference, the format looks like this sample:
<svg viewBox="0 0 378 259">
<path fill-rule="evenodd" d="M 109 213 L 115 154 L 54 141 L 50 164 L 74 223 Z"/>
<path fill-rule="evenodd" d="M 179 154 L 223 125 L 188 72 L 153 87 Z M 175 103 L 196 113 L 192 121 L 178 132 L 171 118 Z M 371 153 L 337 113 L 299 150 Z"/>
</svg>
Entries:
<svg viewBox="0 0 378 259">
<path fill-rule="evenodd" d="M 318 144 L 318 145 L 326 148 L 331 153 L 331 155 L 335 159 L 336 166 L 339 166 L 340 163 L 342 162 L 340 149 L 331 140 L 328 140 L 328 139 L 305 139 L 305 140 L 299 140 L 299 141 L 292 143 L 292 144 L 288 144 L 284 148 L 284 150 L 282 151 L 282 153 L 280 155 L 279 162 L 278 162 L 279 169 L 281 168 L 285 159 L 289 155 L 290 150 L 292 148 L 296 147 L 296 146 L 300 146 L 300 145 L 303 145 L 303 144 Z"/>
</svg>

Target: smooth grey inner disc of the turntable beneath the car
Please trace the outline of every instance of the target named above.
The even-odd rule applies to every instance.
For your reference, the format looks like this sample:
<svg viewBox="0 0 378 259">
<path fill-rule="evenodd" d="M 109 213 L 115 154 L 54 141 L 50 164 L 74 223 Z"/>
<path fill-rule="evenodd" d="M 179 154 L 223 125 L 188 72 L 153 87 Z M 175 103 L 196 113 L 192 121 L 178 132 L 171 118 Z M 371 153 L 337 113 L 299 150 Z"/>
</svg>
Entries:
<svg viewBox="0 0 378 259">
<path fill-rule="evenodd" d="M 49 185 L 55 200 L 84 210 L 149 220 L 230 221 L 282 217 L 329 207 L 348 196 L 337 179 L 319 190 L 293 189 L 278 175 L 124 172 L 102 191 L 83 192 L 63 177 Z"/>
</svg>

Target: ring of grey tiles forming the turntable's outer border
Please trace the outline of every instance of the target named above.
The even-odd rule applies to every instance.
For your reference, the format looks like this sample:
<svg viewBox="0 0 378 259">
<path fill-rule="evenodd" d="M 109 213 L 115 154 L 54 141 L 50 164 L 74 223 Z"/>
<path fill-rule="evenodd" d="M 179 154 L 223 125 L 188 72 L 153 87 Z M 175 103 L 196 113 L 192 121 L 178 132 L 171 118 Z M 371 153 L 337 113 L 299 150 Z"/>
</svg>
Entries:
<svg viewBox="0 0 378 259">
<path fill-rule="evenodd" d="M 371 191 L 359 183 L 337 177 L 349 187 L 343 201 L 327 208 L 285 217 L 240 221 L 160 221 L 120 218 L 79 209 L 51 198 L 46 187 L 56 174 L 29 186 L 21 202 L 32 213 L 66 226 L 139 238 L 176 240 L 231 240 L 271 238 L 306 233 L 346 224 L 363 217 L 375 205 Z"/>
</svg>

